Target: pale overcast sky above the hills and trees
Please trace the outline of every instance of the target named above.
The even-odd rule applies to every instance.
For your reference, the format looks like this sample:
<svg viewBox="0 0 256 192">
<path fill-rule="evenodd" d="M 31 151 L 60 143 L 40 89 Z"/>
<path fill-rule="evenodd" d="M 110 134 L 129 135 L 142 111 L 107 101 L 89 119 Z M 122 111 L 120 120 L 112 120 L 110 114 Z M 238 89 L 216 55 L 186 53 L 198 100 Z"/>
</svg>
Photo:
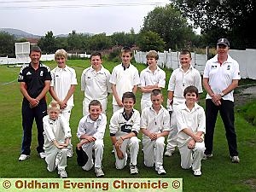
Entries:
<svg viewBox="0 0 256 192">
<path fill-rule="evenodd" d="M 0 28 L 44 36 L 76 32 L 135 32 L 156 6 L 170 0 L 0 0 Z"/>
</svg>

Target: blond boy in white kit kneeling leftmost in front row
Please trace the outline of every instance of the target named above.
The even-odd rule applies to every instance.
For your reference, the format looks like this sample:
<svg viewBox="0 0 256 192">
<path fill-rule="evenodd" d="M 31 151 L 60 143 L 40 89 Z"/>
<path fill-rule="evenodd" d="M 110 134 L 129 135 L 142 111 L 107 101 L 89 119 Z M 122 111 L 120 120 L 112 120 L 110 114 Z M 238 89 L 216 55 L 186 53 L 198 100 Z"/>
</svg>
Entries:
<svg viewBox="0 0 256 192">
<path fill-rule="evenodd" d="M 67 177 L 67 146 L 71 138 L 70 127 L 67 119 L 61 113 L 60 105 L 51 102 L 48 115 L 44 116 L 44 151 L 45 161 L 49 172 L 58 169 L 60 177 Z"/>
</svg>

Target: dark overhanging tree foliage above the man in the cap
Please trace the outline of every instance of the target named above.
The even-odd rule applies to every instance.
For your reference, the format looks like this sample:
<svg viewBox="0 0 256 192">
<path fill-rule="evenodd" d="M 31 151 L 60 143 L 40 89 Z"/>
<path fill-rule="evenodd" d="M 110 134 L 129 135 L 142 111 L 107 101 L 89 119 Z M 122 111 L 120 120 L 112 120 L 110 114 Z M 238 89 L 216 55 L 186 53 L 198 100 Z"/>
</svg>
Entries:
<svg viewBox="0 0 256 192">
<path fill-rule="evenodd" d="M 256 48 L 252 24 L 256 18 L 255 0 L 172 0 L 210 44 L 229 38 L 231 47 Z"/>
</svg>

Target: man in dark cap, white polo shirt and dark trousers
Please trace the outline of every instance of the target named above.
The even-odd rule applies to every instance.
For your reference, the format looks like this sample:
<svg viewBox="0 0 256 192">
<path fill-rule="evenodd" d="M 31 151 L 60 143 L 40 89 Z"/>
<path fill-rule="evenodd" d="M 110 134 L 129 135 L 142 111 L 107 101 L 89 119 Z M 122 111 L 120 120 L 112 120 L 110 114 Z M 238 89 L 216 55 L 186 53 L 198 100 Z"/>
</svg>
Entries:
<svg viewBox="0 0 256 192">
<path fill-rule="evenodd" d="M 205 136 L 206 150 L 204 159 L 212 157 L 213 133 L 220 113 L 226 131 L 226 138 L 229 145 L 230 159 L 233 163 L 239 163 L 233 92 L 241 79 L 239 64 L 228 54 L 230 42 L 226 38 L 218 39 L 217 55 L 207 61 L 203 85 L 207 90 L 206 119 L 207 132 Z"/>
</svg>

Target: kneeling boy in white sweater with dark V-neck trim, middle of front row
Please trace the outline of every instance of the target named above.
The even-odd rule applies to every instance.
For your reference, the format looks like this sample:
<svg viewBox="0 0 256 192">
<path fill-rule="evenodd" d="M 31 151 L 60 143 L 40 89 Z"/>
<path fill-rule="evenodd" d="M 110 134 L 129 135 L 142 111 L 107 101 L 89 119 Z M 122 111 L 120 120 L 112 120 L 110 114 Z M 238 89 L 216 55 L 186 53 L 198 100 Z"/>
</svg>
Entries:
<svg viewBox="0 0 256 192">
<path fill-rule="evenodd" d="M 137 133 L 140 130 L 140 113 L 134 109 L 136 97 L 132 92 L 125 92 L 122 97 L 124 108 L 113 113 L 109 130 L 115 155 L 115 167 L 123 169 L 126 166 L 126 148 L 130 150 L 130 172 L 137 174 L 137 154 L 140 140 Z"/>
</svg>

